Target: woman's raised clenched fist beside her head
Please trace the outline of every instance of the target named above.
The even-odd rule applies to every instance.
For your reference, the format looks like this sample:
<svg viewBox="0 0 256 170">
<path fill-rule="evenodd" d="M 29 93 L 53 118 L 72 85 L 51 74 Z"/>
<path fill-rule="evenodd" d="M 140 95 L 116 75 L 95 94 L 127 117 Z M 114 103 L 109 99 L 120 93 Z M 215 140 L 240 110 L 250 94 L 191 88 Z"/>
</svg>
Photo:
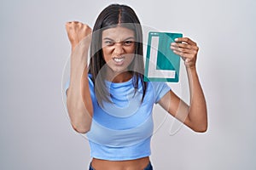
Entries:
<svg viewBox="0 0 256 170">
<path fill-rule="evenodd" d="M 83 24 L 79 21 L 67 22 L 66 31 L 67 31 L 67 36 L 71 43 L 72 49 L 74 49 L 79 44 L 79 42 L 83 40 L 85 37 L 86 37 L 86 42 L 90 44 L 90 40 L 91 40 L 90 26 Z"/>
</svg>

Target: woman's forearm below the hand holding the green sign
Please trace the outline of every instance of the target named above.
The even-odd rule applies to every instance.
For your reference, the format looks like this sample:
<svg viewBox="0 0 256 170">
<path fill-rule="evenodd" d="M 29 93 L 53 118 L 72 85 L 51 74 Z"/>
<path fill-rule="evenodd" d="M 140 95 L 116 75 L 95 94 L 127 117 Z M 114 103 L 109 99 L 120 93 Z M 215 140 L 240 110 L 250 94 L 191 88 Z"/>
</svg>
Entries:
<svg viewBox="0 0 256 170">
<path fill-rule="evenodd" d="M 189 122 L 198 132 L 207 130 L 207 104 L 195 67 L 187 68 L 189 77 Z"/>
</svg>

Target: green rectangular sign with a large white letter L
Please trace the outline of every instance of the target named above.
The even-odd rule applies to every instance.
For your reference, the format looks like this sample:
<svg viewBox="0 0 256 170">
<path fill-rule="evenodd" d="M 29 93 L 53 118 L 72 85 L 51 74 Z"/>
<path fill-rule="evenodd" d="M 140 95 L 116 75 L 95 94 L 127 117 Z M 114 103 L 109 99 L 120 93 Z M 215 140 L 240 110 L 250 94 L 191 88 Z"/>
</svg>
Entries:
<svg viewBox="0 0 256 170">
<path fill-rule="evenodd" d="M 148 33 L 145 82 L 178 82 L 180 57 L 170 48 L 177 37 L 183 35 L 156 31 Z"/>
</svg>

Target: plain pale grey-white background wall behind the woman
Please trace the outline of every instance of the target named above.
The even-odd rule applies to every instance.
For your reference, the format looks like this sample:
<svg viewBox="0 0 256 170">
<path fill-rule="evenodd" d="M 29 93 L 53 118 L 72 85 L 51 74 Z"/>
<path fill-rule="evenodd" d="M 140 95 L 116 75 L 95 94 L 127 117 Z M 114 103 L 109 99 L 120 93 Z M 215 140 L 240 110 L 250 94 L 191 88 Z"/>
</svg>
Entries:
<svg viewBox="0 0 256 170">
<path fill-rule="evenodd" d="M 197 68 L 209 128 L 181 127 L 156 106 L 160 128 L 151 160 L 159 169 L 256 169 L 255 8 L 253 0 L 117 1 L 143 25 L 183 32 L 200 47 Z M 0 3 L 0 169 L 87 169 L 86 139 L 70 126 L 61 77 L 70 54 L 65 23 L 93 26 L 113 1 L 24 0 Z M 158 116 L 159 115 L 159 116 Z"/>
</svg>

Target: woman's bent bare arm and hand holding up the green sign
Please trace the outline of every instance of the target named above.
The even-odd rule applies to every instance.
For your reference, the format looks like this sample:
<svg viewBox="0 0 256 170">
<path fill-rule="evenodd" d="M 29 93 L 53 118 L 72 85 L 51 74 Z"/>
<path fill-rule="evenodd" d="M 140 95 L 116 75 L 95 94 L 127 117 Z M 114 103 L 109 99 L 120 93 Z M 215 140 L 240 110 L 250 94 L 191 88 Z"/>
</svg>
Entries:
<svg viewBox="0 0 256 170">
<path fill-rule="evenodd" d="M 172 91 L 160 99 L 159 104 L 195 132 L 206 132 L 207 104 L 195 67 L 199 48 L 188 37 L 177 38 L 175 41 L 171 44 L 171 48 L 175 54 L 183 58 L 186 65 L 189 77 L 190 105 L 183 102 Z"/>
</svg>

